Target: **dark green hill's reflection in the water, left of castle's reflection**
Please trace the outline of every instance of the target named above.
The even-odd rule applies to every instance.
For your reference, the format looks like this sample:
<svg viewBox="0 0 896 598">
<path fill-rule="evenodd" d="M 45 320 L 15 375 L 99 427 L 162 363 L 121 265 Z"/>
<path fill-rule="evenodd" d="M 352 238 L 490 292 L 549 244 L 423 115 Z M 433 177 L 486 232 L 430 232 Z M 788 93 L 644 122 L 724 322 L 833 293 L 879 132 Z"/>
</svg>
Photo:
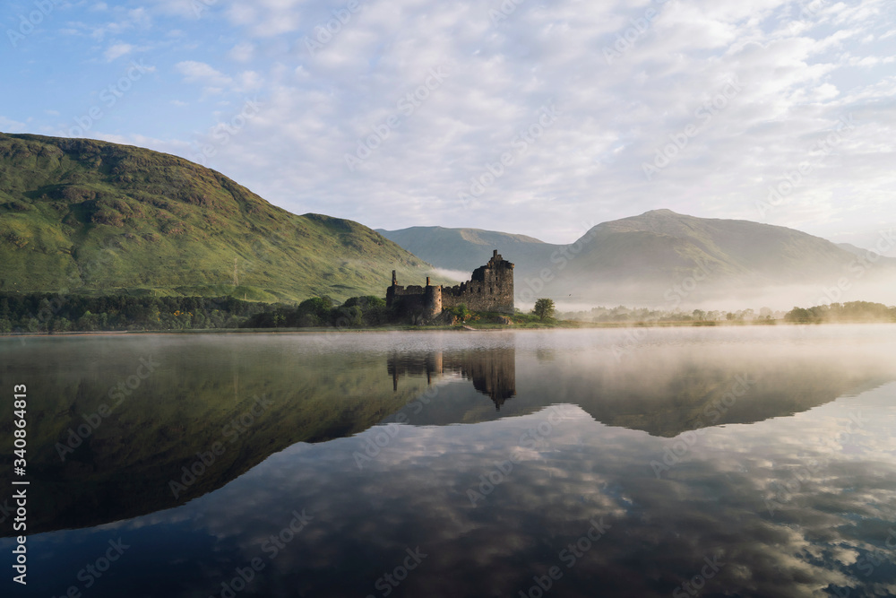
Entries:
<svg viewBox="0 0 896 598">
<path fill-rule="evenodd" d="M 237 350 L 223 339 L 168 337 L 162 346 L 158 337 L 39 339 L 21 360 L 3 360 L 4 380 L 29 381 L 28 472 L 32 487 L 42 489 L 30 495 L 30 533 L 176 507 L 287 446 L 367 429 L 425 386 L 412 381 L 394 393 L 382 359 L 260 351 L 247 338 Z M 133 376 L 145 356 L 162 365 L 63 462 L 57 443 L 84 424 L 82 415 L 114 404 L 110 387 Z M 271 405 L 260 413 L 256 407 L 250 421 L 246 413 L 262 395 Z M 182 468 L 216 442 L 224 453 L 175 498 L 169 482 L 180 481 Z M 4 486 L 11 458 L 0 457 Z"/>
</svg>

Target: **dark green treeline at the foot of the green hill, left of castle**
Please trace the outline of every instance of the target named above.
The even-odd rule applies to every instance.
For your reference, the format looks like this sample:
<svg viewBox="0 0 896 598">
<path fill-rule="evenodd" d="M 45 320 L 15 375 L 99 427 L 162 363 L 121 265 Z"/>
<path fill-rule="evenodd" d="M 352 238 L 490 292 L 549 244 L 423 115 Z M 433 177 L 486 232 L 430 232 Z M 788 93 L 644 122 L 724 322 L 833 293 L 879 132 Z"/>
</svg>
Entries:
<svg viewBox="0 0 896 598">
<path fill-rule="evenodd" d="M 213 328 L 358 327 L 389 321 L 378 297 L 342 305 L 323 297 L 298 306 L 232 297 L 134 297 L 0 292 L 0 334 Z"/>
</svg>

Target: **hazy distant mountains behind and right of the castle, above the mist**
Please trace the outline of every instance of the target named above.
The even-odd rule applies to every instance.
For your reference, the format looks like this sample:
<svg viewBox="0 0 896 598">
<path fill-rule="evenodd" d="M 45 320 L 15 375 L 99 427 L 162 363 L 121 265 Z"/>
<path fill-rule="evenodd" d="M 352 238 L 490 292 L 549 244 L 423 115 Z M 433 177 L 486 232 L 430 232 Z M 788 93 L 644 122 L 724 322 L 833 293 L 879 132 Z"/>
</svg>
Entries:
<svg viewBox="0 0 896 598">
<path fill-rule="evenodd" d="M 550 297 L 580 305 L 672 308 L 732 297 L 742 303 L 771 301 L 770 293 L 776 293 L 780 307 L 790 308 L 821 299 L 823 290 L 842 277 L 852 291 L 882 281 L 896 289 L 896 260 L 866 267 L 855 252 L 831 241 L 752 221 L 654 210 L 603 222 L 570 246 L 478 230 L 470 240 L 467 231 L 417 228 L 385 235 L 423 259 L 452 269 L 468 269 L 472 256 L 497 248 L 516 264 L 517 299 L 529 304 Z M 493 245 L 485 247 L 489 241 Z M 876 297 L 858 299 L 881 300 Z"/>
</svg>

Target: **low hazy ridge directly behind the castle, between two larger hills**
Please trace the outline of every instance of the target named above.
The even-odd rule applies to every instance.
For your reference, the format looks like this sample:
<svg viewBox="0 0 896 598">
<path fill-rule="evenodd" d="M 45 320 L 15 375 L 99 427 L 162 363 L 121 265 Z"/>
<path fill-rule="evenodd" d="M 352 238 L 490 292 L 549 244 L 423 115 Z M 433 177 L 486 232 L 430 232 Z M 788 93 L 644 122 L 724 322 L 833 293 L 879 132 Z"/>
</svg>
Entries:
<svg viewBox="0 0 896 598">
<path fill-rule="evenodd" d="M 376 232 L 438 268 L 464 272 L 485 264 L 494 249 L 503 256 L 513 256 L 511 261 L 526 264 L 550 256 L 556 248 L 537 238 L 494 230 L 415 226 Z"/>
</svg>

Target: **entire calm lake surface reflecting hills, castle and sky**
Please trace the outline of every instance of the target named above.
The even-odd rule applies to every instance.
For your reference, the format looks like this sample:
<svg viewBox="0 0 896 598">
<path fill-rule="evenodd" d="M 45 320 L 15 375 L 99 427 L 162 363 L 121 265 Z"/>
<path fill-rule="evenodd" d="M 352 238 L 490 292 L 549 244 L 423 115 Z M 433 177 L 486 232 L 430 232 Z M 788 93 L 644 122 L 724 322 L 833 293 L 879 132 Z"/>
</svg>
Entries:
<svg viewBox="0 0 896 598">
<path fill-rule="evenodd" d="M 28 386 L 31 482 L 27 592 L 0 513 L 4 595 L 896 595 L 896 326 L 0 358 L 6 398 Z"/>
</svg>

